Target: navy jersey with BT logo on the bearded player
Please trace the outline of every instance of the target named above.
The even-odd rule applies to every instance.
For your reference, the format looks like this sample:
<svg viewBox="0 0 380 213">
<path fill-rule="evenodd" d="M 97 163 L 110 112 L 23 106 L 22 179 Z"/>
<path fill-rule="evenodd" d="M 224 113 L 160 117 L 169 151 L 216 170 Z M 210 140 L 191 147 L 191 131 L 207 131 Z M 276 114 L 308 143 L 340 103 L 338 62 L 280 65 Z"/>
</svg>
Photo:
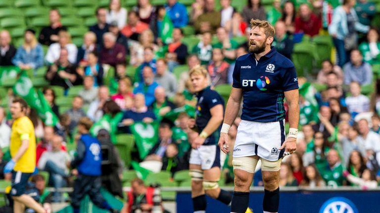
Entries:
<svg viewBox="0 0 380 213">
<path fill-rule="evenodd" d="M 293 63 L 272 47 L 256 61 L 253 53 L 235 64 L 233 87 L 242 89 L 242 120 L 275 122 L 285 118 L 284 92 L 298 89 Z"/>
</svg>

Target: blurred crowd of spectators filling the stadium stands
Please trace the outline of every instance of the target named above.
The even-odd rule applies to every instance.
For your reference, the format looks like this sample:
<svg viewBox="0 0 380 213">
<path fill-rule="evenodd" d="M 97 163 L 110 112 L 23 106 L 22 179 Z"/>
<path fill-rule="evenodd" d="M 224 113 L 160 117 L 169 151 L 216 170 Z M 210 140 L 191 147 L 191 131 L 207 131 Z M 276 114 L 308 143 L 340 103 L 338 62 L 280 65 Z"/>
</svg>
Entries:
<svg viewBox="0 0 380 213">
<path fill-rule="evenodd" d="M 144 150 L 143 158 L 135 144 L 132 160 L 160 162 L 162 171 L 170 171 L 173 177 L 188 169 L 189 142 L 194 136 L 186 123 L 196 103 L 188 72 L 204 66 L 210 86 L 222 91 L 222 86 L 232 83 L 236 59 L 248 53 L 250 20 L 261 19 L 275 26 L 272 46 L 289 59 L 297 46 L 317 37 L 328 37 L 334 47 L 316 60 L 310 73 L 299 72 L 297 151 L 285 157 L 280 185 L 376 187 L 380 180 L 380 25 L 375 8 L 379 5 L 367 0 L 238 1 L 194 0 L 184 5 L 181 0 L 167 0 L 164 5 L 153 5 L 150 0 L 138 0 L 137 5 L 126 7 L 124 1 L 110 0 L 108 6 L 96 8 L 97 21 L 80 44 L 73 43 L 70 26 L 62 25 L 59 7 L 50 9 L 48 26 L 26 28 L 19 46 L 2 29 L 0 66 L 30 71 L 31 79 L 45 69 L 42 77 L 48 85 L 42 91 L 58 122 L 46 126 L 33 108 L 29 116 L 39 139 L 38 168 L 49 173 L 49 184 L 59 188 L 70 183 L 70 150 L 78 139 L 81 117 L 95 124 L 111 120 L 103 130 L 92 133 L 115 147 L 120 143 L 115 135 L 136 136 L 138 124 L 157 124 L 156 141 Z M 172 29 L 170 35 L 166 28 Z M 7 104 L 13 97 L 11 88 L 0 97 L 3 150 L 9 146 Z M 65 103 L 57 103 L 65 97 Z M 192 112 L 183 110 L 188 107 Z M 180 112 L 173 113 L 176 110 Z M 230 130 L 232 142 L 238 122 Z M 5 152 L 0 168 L 9 159 Z M 117 148 L 112 152 L 114 166 L 105 169 L 108 178 L 103 183 L 111 185 L 108 190 L 114 195 L 122 196 L 123 170 L 134 168 L 124 165 Z M 222 178 L 227 184 L 233 183 L 230 158 Z M 260 177 L 257 172 L 254 185 L 262 185 Z M 1 169 L 0 178 L 10 177 Z M 51 200 L 61 198 L 57 192 Z"/>
</svg>

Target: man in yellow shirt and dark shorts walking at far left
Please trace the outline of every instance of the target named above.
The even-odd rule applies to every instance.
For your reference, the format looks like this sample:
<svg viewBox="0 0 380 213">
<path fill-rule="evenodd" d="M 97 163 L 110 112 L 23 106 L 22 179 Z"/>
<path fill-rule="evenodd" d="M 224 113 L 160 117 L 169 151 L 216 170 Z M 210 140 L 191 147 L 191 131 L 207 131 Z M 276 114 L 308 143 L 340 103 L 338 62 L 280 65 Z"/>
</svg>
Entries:
<svg viewBox="0 0 380 213">
<path fill-rule="evenodd" d="M 10 195 L 14 200 L 14 213 L 23 213 L 25 206 L 37 213 L 45 213 L 46 210 L 39 203 L 25 194 L 28 179 L 36 168 L 36 137 L 33 123 L 25 115 L 27 107 L 27 103 L 20 98 L 15 98 L 10 106 L 14 119 L 9 147 L 12 159 L 5 165 L 4 173 L 12 172 Z"/>
</svg>

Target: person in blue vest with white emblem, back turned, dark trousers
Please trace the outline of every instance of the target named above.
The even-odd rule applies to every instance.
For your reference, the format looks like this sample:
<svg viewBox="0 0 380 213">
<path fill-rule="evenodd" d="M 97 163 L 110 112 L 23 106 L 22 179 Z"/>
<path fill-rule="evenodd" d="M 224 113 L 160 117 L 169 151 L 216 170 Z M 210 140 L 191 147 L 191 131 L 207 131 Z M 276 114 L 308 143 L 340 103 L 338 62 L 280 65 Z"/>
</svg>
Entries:
<svg viewBox="0 0 380 213">
<path fill-rule="evenodd" d="M 100 193 L 101 187 L 101 148 L 100 142 L 90 135 L 93 122 L 84 117 L 79 120 L 76 155 L 71 161 L 71 167 L 77 168 L 72 171 L 77 176 L 74 182 L 74 191 L 71 196 L 71 206 L 74 213 L 79 213 L 80 203 L 86 195 L 99 208 L 110 212 L 116 212 L 104 200 Z"/>
</svg>

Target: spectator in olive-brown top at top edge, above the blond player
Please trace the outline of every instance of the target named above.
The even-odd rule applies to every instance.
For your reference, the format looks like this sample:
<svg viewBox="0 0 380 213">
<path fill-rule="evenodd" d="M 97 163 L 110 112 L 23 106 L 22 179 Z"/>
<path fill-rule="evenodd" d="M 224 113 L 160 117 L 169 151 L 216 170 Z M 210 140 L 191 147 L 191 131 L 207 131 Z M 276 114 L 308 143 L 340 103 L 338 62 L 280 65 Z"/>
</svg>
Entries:
<svg viewBox="0 0 380 213">
<path fill-rule="evenodd" d="M 216 29 L 220 27 L 221 13 L 214 9 L 215 0 L 204 0 L 204 11 L 196 18 L 194 22 L 195 32 L 210 32 L 214 34 Z"/>
</svg>

